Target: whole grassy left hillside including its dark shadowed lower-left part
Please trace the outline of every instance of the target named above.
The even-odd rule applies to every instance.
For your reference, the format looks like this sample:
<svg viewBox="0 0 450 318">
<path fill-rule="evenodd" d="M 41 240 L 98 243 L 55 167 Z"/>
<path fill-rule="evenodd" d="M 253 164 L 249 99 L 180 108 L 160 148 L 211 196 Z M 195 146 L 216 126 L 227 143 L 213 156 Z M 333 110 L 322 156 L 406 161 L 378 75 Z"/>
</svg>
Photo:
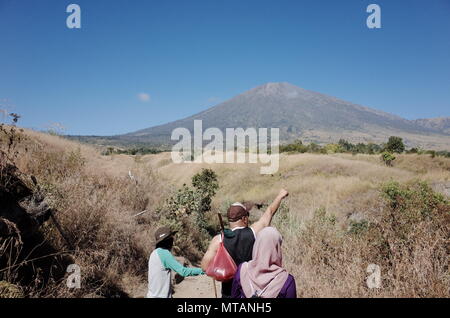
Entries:
<svg viewBox="0 0 450 318">
<path fill-rule="evenodd" d="M 19 295 L 43 298 L 129 297 L 144 284 L 154 209 L 167 184 L 131 156 L 111 159 L 0 125 L 0 298 L 5 282 Z M 80 289 L 67 288 L 70 264 L 81 268 Z"/>
</svg>

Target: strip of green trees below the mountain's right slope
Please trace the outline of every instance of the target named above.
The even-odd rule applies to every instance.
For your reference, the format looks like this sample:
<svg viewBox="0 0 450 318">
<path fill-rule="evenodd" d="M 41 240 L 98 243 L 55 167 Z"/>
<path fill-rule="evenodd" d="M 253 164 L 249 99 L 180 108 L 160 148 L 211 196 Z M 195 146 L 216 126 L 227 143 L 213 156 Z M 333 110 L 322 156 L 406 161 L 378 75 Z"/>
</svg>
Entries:
<svg viewBox="0 0 450 318">
<path fill-rule="evenodd" d="M 353 144 L 345 139 L 340 139 L 337 144 L 319 145 L 314 142 L 309 144 L 303 144 L 301 140 L 296 140 L 291 144 L 280 145 L 280 152 L 293 152 L 293 153 L 352 153 L 352 154 L 381 154 L 384 152 L 389 153 L 407 153 L 407 154 L 429 154 L 434 156 L 450 157 L 450 151 L 435 151 L 424 150 L 420 148 L 406 149 L 403 144 L 403 140 L 400 137 L 392 136 L 387 143 L 375 144 L 375 143 L 357 143 Z"/>
</svg>

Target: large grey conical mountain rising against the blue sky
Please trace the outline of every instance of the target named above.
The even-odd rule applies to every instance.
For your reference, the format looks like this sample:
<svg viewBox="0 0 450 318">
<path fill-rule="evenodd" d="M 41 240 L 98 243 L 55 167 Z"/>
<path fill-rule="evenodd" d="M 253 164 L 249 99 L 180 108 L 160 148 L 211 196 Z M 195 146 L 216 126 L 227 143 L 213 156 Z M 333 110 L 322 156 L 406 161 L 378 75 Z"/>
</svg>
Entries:
<svg viewBox="0 0 450 318">
<path fill-rule="evenodd" d="M 356 105 L 289 83 L 267 83 L 193 116 L 133 133 L 111 137 L 79 137 L 101 144 L 171 144 L 173 129 L 193 131 L 193 121 L 203 120 L 203 129 L 280 128 L 281 142 L 302 139 L 330 143 L 340 138 L 352 142 L 383 142 L 389 136 L 403 137 L 408 146 L 450 149 L 450 135 L 436 125 L 403 119 Z"/>
</svg>

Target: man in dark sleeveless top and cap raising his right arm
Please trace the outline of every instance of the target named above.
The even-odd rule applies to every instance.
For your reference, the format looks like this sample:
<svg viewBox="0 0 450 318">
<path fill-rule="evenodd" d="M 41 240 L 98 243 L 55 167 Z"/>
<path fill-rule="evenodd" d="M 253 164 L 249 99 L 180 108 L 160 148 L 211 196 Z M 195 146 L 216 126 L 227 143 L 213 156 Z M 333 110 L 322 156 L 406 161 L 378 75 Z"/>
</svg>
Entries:
<svg viewBox="0 0 450 318">
<path fill-rule="evenodd" d="M 272 218 L 280 207 L 281 201 L 288 196 L 288 192 L 284 189 L 269 205 L 267 210 L 261 218 L 249 227 L 249 208 L 241 203 L 232 204 L 228 211 L 227 217 L 230 222 L 230 229 L 232 232 L 226 233 L 224 236 L 224 246 L 230 256 L 233 258 L 237 266 L 243 262 L 248 262 L 252 259 L 253 244 L 255 243 L 256 234 L 263 228 L 270 225 Z M 203 256 L 201 267 L 206 272 L 209 263 L 214 259 L 217 249 L 220 246 L 221 235 L 215 236 L 209 244 L 208 250 Z M 231 297 L 232 280 L 222 283 L 222 297 Z"/>
</svg>

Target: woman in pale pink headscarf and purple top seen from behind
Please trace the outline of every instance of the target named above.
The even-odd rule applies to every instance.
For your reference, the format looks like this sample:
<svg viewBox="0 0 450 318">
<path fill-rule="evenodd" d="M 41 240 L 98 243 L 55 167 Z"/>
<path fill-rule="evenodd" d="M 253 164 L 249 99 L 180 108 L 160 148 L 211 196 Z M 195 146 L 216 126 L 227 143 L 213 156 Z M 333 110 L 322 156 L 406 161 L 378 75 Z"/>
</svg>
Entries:
<svg viewBox="0 0 450 318">
<path fill-rule="evenodd" d="M 297 298 L 294 277 L 282 267 L 282 241 L 273 227 L 258 233 L 252 260 L 234 275 L 232 298 Z"/>
</svg>

